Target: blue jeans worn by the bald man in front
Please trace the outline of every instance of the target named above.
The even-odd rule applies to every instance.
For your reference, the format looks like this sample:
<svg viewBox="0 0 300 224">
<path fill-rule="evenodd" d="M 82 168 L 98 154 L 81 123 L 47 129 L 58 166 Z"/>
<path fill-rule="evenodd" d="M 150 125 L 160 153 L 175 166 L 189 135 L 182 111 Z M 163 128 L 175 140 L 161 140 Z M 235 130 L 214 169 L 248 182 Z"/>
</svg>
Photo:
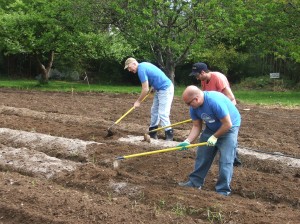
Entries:
<svg viewBox="0 0 300 224">
<path fill-rule="evenodd" d="M 190 181 L 195 186 L 203 186 L 205 177 L 217 152 L 219 152 L 219 177 L 215 188 L 217 193 L 222 195 L 229 195 L 231 193 L 230 183 L 233 174 L 233 161 L 236 154 L 238 132 L 239 127 L 232 127 L 226 134 L 218 138 L 215 146 L 201 146 L 197 148 L 194 171 L 189 176 Z M 200 142 L 206 142 L 213 134 L 214 132 L 205 128 L 200 136 Z"/>
</svg>

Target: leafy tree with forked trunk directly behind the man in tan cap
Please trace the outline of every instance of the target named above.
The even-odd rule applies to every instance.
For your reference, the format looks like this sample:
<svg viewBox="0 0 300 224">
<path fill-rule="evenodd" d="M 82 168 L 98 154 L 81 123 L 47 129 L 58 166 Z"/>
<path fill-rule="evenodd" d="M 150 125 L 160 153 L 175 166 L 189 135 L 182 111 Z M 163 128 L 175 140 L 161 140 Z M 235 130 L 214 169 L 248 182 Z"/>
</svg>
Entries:
<svg viewBox="0 0 300 224">
<path fill-rule="evenodd" d="M 175 67 L 192 51 L 200 52 L 220 35 L 230 39 L 234 31 L 226 11 L 230 4 L 219 0 L 114 0 L 110 9 L 112 23 L 139 47 L 136 55 L 157 62 L 174 81 Z"/>
</svg>

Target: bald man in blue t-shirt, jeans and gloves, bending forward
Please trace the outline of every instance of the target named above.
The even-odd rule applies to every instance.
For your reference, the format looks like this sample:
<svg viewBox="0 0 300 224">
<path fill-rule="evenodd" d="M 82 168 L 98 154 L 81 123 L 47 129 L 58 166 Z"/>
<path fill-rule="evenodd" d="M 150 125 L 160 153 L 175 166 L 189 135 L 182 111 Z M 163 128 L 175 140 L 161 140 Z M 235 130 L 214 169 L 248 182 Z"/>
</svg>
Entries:
<svg viewBox="0 0 300 224">
<path fill-rule="evenodd" d="M 202 130 L 200 142 L 207 146 L 197 148 L 194 171 L 187 182 L 179 183 L 182 187 L 201 189 L 213 160 L 220 153 L 219 177 L 216 191 L 222 195 L 231 193 L 230 183 L 233 174 L 233 161 L 237 147 L 241 116 L 235 105 L 224 94 L 216 91 L 202 91 L 196 86 L 188 86 L 182 94 L 183 101 L 190 107 L 193 120 L 192 130 L 187 139 L 180 143 L 181 150 L 193 142 Z"/>
</svg>

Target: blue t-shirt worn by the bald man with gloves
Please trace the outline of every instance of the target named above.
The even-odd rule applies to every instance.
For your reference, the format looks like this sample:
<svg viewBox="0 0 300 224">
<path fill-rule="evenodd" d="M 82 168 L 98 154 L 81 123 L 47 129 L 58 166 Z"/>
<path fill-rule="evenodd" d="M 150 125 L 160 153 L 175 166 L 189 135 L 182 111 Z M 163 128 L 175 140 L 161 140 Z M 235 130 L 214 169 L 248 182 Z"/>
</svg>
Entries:
<svg viewBox="0 0 300 224">
<path fill-rule="evenodd" d="M 233 127 L 241 125 L 241 115 L 227 96 L 216 91 L 203 91 L 203 93 L 203 104 L 196 109 L 190 107 L 192 120 L 204 120 L 208 129 L 217 131 L 222 125 L 220 120 L 229 114 Z"/>
</svg>

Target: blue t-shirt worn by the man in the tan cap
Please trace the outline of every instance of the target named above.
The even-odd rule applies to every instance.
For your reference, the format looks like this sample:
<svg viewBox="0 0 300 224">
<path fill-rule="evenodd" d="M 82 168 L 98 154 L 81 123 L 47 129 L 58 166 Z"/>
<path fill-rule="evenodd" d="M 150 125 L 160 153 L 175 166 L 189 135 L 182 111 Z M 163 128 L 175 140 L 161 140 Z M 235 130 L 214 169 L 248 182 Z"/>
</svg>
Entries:
<svg viewBox="0 0 300 224">
<path fill-rule="evenodd" d="M 155 90 L 167 89 L 172 84 L 162 70 L 149 62 L 140 63 L 137 72 L 141 83 L 148 81 Z"/>
</svg>

